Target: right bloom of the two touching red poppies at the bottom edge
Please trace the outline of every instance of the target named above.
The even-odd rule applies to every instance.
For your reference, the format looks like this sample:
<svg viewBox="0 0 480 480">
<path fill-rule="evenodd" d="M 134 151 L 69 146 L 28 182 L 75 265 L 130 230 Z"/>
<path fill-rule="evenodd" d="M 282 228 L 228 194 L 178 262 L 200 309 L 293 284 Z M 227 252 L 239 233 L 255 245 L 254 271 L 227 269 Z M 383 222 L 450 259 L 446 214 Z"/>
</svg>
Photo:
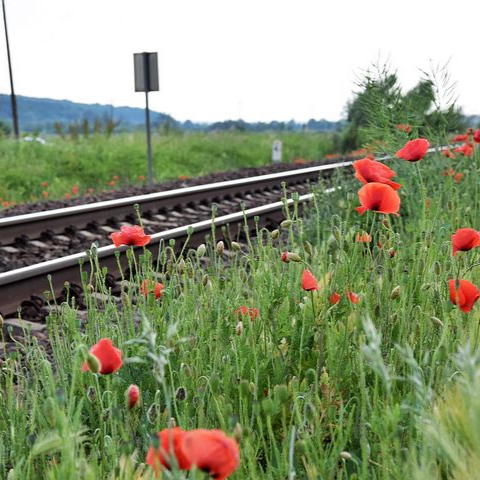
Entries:
<svg viewBox="0 0 480 480">
<path fill-rule="evenodd" d="M 183 451 L 192 466 L 216 480 L 224 480 L 240 463 L 237 442 L 221 430 L 192 430 L 186 432 Z"/>
</svg>

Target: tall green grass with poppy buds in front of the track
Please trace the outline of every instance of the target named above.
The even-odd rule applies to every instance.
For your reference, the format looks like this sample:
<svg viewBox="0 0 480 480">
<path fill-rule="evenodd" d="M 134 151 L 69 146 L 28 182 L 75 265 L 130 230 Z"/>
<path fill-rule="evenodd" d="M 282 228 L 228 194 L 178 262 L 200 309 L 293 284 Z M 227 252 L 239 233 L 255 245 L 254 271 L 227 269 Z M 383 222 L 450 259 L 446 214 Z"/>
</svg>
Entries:
<svg viewBox="0 0 480 480">
<path fill-rule="evenodd" d="M 398 218 L 359 216 L 351 172 L 334 193 L 320 185 L 303 218 L 292 208 L 283 235 L 257 232 L 228 267 L 215 242 L 206 270 L 193 249 L 179 258 L 164 246 L 158 259 L 135 262 L 128 254 L 120 304 L 94 268 L 84 276 L 85 330 L 74 306 L 48 317 L 55 366 L 34 340 L 24 368 L 15 357 L 2 364 L 0 477 L 153 478 L 142 462 L 173 419 L 235 434 L 232 479 L 475 478 L 480 306 L 460 311 L 448 280 L 480 282 L 470 268 L 480 251 L 453 257 L 450 243 L 457 228 L 478 228 L 476 155 L 392 162 Z M 450 166 L 461 182 L 441 175 Z M 363 231 L 371 243 L 356 242 Z M 283 263 L 285 250 L 303 262 Z M 306 267 L 318 292 L 301 288 Z M 158 301 L 139 294 L 156 275 L 166 287 Z M 342 298 L 332 305 L 335 291 Z M 258 308 L 258 318 L 238 317 L 241 306 Z M 82 372 L 102 337 L 125 364 L 112 375 Z M 124 400 L 131 383 L 142 392 L 133 411 Z"/>
</svg>

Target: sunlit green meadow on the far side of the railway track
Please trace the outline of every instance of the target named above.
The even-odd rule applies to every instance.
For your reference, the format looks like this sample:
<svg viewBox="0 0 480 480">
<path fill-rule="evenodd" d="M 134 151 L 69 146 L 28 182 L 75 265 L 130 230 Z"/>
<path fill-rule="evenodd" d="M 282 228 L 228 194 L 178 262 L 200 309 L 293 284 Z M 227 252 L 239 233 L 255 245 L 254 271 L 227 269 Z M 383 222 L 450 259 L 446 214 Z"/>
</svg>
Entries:
<svg viewBox="0 0 480 480">
<path fill-rule="evenodd" d="M 157 182 L 179 176 L 258 167 L 271 163 L 274 140 L 283 142 L 283 159 L 318 160 L 332 149 L 332 137 L 317 133 L 195 133 L 152 136 L 154 176 Z M 61 199 L 128 185 L 142 185 L 147 177 L 143 133 L 35 142 L 0 140 L 0 205 Z M 118 177 L 118 178 L 117 178 Z M 48 186 L 42 186 L 47 182 Z M 109 183 L 114 184 L 110 185 Z M 48 193 L 42 193 L 48 192 Z"/>
</svg>

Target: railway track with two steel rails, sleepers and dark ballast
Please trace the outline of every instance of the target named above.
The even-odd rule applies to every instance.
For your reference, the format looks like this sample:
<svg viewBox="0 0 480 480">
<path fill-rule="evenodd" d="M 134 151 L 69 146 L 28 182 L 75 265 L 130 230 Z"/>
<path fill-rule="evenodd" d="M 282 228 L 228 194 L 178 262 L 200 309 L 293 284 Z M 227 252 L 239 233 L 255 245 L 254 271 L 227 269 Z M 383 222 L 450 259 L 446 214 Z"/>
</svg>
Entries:
<svg viewBox="0 0 480 480">
<path fill-rule="evenodd" d="M 389 159 L 391 157 L 378 160 Z M 245 228 L 251 231 L 259 227 L 276 228 L 285 218 L 285 205 L 280 201 L 285 193 L 282 182 L 288 185 L 287 191 L 300 194 L 301 205 L 312 197 L 305 194 L 310 183 L 316 182 L 319 176 L 328 178 L 352 163 L 344 161 L 0 219 L 0 260 L 3 259 L 4 264 L 8 264 L 5 260 L 8 256 L 14 259 L 11 264 L 40 253 L 40 258 L 45 260 L 40 263 L 37 260 L 34 265 L 27 262 L 25 266 L 0 273 L 0 320 L 4 336 L 8 332 L 13 340 L 3 345 L 3 351 L 15 349 L 25 331 L 45 342 L 48 348 L 44 320 L 52 308 L 66 299 L 75 297 L 76 304 L 82 304 L 84 284 L 79 264 L 84 275 L 89 275 L 88 249 L 92 244 L 98 263 L 108 269 L 106 286 L 113 294 L 121 291 L 118 279 L 121 270 L 128 267 L 126 255 L 121 253 L 131 247 L 114 247 L 109 235 L 122 225 L 139 223 L 134 205 L 138 205 L 146 233 L 152 235 L 146 247 L 136 247 L 134 251 L 140 254 L 146 248 L 157 258 L 163 246 L 171 241 L 177 250 L 187 239 L 189 247 L 196 247 L 213 231 L 217 239 L 222 238 L 227 226 L 229 238 L 239 240 Z M 217 205 L 213 219 L 212 203 Z M 25 254 L 23 260 L 22 255 L 18 255 L 22 247 L 23 252 L 29 254 Z M 65 256 L 66 252 L 69 255 Z M 58 254 L 60 257 L 54 258 Z M 47 303 L 45 292 L 58 301 Z"/>
</svg>

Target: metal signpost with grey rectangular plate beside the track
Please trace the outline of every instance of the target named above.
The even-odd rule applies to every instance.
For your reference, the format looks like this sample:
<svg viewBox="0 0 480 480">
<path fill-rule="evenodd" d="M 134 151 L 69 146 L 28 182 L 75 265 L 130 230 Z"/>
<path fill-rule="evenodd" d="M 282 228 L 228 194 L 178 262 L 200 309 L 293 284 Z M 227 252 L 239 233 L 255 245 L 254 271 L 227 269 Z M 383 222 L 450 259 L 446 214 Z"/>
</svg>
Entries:
<svg viewBox="0 0 480 480">
<path fill-rule="evenodd" d="M 148 183 L 153 183 L 152 142 L 150 138 L 150 111 L 148 109 L 148 92 L 158 92 L 158 57 L 157 53 L 134 53 L 135 91 L 145 92 L 145 123 L 147 129 Z"/>
</svg>

